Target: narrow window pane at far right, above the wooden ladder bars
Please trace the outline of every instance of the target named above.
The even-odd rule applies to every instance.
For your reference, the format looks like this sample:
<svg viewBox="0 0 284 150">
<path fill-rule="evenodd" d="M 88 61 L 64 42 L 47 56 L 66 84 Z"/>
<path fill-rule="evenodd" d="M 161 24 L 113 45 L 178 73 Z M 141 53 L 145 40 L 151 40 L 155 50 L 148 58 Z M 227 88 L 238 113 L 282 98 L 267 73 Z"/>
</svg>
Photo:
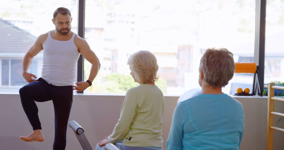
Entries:
<svg viewBox="0 0 284 150">
<path fill-rule="evenodd" d="M 284 82 L 284 1 L 267 0 L 264 83 Z"/>
</svg>

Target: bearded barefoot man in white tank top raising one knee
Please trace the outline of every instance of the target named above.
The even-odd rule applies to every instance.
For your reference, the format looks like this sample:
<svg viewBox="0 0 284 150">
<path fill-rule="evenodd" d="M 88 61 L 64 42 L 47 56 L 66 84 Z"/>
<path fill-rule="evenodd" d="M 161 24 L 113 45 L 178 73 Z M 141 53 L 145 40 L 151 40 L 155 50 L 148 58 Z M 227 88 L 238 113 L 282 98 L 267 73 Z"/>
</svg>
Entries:
<svg viewBox="0 0 284 150">
<path fill-rule="evenodd" d="M 55 113 L 54 150 L 66 147 L 66 130 L 72 106 L 73 87 L 77 92 L 84 91 L 91 86 L 101 66 L 99 59 L 90 49 L 85 39 L 80 38 L 71 30 L 71 13 L 64 7 L 58 8 L 52 19 L 55 30 L 41 34 L 34 45 L 24 56 L 22 75 L 29 83 L 19 90 L 23 109 L 33 127 L 33 132 L 24 141 L 43 141 L 41 123 L 35 101 L 45 102 L 52 100 Z M 32 58 L 43 50 L 43 68 L 38 80 L 34 74 L 28 73 Z M 91 71 L 86 82 L 77 82 L 76 64 L 80 53 L 89 61 Z"/>
</svg>

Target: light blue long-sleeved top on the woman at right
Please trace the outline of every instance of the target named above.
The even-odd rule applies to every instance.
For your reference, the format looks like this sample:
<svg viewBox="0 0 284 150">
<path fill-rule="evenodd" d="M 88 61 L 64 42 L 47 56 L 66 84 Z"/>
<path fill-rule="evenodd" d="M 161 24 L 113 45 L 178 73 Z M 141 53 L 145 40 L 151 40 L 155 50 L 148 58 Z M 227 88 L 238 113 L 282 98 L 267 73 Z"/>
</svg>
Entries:
<svg viewBox="0 0 284 150">
<path fill-rule="evenodd" d="M 227 94 L 200 94 L 176 106 L 167 150 L 239 150 L 242 104 Z"/>
</svg>

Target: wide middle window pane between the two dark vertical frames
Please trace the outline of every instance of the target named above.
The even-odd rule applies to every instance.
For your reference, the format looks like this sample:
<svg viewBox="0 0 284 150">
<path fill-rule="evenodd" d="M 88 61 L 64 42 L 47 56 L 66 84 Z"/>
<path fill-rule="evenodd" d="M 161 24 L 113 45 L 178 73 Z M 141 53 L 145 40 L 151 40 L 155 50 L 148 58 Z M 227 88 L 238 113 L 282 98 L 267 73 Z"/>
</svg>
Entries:
<svg viewBox="0 0 284 150">
<path fill-rule="evenodd" d="M 156 84 L 164 94 L 199 87 L 199 62 L 209 47 L 229 49 L 235 62 L 254 61 L 255 0 L 85 3 L 85 39 L 102 64 L 87 93 L 125 93 L 129 85 L 137 85 L 129 75 L 127 59 L 139 50 L 157 57 Z M 87 80 L 90 64 L 85 61 L 84 67 Z M 235 87 L 251 86 L 252 75 L 236 74 L 224 91 L 232 94 Z"/>
</svg>

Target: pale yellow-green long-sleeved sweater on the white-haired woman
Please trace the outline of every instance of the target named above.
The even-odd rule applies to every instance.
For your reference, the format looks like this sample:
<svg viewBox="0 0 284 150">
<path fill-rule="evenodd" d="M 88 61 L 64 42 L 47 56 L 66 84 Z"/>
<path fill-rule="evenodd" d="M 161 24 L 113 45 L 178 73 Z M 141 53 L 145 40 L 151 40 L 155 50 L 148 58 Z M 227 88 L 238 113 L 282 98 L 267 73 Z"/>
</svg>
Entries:
<svg viewBox="0 0 284 150">
<path fill-rule="evenodd" d="M 163 147 L 164 109 L 164 95 L 156 85 L 141 84 L 129 89 L 108 143 L 124 139 L 126 146 Z"/>
</svg>

